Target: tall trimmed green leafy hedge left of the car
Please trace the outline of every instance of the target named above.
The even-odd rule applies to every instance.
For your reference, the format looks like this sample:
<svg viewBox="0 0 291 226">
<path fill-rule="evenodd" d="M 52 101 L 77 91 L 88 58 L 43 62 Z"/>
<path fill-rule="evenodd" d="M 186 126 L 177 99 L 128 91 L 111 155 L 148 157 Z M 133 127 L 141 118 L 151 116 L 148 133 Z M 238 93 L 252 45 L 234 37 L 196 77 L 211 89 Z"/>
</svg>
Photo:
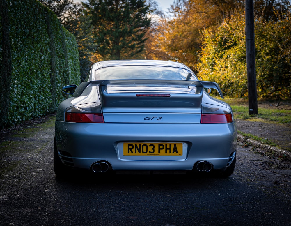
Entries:
<svg viewBox="0 0 291 226">
<path fill-rule="evenodd" d="M 56 15 L 36 0 L 0 0 L 0 7 L 5 6 L 8 14 L 0 11 L 0 48 L 8 27 L 11 69 L 1 73 L 1 84 L 10 82 L 10 89 L 0 94 L 9 99 L 0 108 L 1 127 L 54 112 L 65 99 L 62 86 L 80 83 L 77 42 Z M 2 23 L 2 17 L 8 22 Z M 7 50 L 0 51 L 2 72 L 7 70 Z"/>
</svg>

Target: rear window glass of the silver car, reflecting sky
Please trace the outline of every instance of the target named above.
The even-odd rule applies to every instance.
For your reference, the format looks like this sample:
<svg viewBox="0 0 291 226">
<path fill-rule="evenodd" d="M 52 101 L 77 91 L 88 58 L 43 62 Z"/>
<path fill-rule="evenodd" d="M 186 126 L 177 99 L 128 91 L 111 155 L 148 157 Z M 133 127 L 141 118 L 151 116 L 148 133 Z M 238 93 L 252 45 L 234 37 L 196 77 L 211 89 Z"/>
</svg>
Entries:
<svg viewBox="0 0 291 226">
<path fill-rule="evenodd" d="M 114 66 L 95 71 L 95 80 L 165 79 L 198 80 L 194 73 L 183 68 L 165 66 Z"/>
</svg>

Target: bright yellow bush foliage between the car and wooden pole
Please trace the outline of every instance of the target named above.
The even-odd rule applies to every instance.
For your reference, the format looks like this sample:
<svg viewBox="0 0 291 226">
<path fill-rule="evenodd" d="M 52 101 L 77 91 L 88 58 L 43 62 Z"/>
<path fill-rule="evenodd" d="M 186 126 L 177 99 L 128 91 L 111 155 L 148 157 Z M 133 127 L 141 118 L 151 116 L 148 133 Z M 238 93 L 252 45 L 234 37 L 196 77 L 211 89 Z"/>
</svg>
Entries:
<svg viewBox="0 0 291 226">
<path fill-rule="evenodd" d="M 199 79 L 217 82 L 225 95 L 234 98 L 247 95 L 244 28 L 244 13 L 237 13 L 220 26 L 203 30 L 197 64 Z"/>
</svg>

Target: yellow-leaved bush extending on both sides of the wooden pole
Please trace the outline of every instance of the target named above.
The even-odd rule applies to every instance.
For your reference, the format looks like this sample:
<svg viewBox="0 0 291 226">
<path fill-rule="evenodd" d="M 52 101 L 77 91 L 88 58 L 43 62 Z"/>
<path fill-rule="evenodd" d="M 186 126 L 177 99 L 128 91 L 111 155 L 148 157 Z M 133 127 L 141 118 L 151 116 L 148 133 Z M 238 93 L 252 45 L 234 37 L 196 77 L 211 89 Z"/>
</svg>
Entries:
<svg viewBox="0 0 291 226">
<path fill-rule="evenodd" d="M 280 18 L 280 17 L 278 17 Z M 255 19 L 258 98 L 291 98 L 291 22 L 285 13 L 279 20 Z M 247 97 L 244 13 L 232 15 L 220 26 L 203 31 L 197 76 L 217 82 L 228 97 Z"/>
</svg>

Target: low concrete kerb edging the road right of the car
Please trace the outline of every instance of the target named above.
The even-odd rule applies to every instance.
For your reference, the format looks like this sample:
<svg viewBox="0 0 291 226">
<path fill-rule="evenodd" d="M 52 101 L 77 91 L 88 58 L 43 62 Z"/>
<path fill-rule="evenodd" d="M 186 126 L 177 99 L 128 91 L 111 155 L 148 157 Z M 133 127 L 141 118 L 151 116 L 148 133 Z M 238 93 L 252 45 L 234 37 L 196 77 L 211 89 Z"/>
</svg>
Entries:
<svg viewBox="0 0 291 226">
<path fill-rule="evenodd" d="M 256 140 L 252 140 L 250 138 L 246 138 L 242 135 L 237 135 L 237 140 L 239 142 L 249 143 L 253 147 L 258 147 L 262 150 L 263 153 L 265 152 L 274 152 L 276 156 L 285 156 L 286 159 L 291 160 L 291 152 L 276 148 L 274 146 L 270 146 L 268 144 L 262 144 L 261 142 L 258 142 Z"/>
</svg>

